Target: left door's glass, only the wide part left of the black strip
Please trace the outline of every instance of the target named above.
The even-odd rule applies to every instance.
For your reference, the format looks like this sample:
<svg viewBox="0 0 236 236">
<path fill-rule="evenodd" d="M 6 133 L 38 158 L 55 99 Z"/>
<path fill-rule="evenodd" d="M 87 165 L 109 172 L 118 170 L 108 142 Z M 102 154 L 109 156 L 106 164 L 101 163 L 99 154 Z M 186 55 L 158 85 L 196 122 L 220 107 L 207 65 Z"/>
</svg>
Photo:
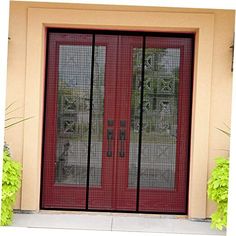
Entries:
<svg viewBox="0 0 236 236">
<path fill-rule="evenodd" d="M 60 45 L 56 183 L 86 186 L 92 46 Z"/>
</svg>

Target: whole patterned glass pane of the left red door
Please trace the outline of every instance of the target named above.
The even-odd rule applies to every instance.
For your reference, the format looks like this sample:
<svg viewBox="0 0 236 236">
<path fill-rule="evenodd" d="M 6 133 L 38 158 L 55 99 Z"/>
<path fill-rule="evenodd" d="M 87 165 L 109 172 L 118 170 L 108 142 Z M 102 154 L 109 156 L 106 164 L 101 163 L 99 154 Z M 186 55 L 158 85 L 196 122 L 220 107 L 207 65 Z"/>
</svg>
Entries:
<svg viewBox="0 0 236 236">
<path fill-rule="evenodd" d="M 101 51 L 102 53 L 98 53 Z M 60 45 L 56 182 L 86 186 L 92 46 Z M 100 63 L 96 63 L 97 60 Z M 95 49 L 90 184 L 101 177 L 104 47 Z M 99 99 L 97 98 L 99 96 Z M 96 168 L 95 168 L 96 166 Z M 96 175 L 96 177 L 94 177 Z"/>
</svg>

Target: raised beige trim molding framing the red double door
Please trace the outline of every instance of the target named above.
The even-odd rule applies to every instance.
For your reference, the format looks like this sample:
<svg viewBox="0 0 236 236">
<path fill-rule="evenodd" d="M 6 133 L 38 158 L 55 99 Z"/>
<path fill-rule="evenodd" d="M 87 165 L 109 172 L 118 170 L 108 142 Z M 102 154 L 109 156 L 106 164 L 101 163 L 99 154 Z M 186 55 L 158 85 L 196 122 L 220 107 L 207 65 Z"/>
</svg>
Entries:
<svg viewBox="0 0 236 236">
<path fill-rule="evenodd" d="M 39 210 L 44 104 L 45 28 L 194 32 L 195 61 L 191 129 L 189 217 L 206 217 L 206 184 L 214 14 L 29 8 L 25 87 L 22 210 Z"/>
</svg>

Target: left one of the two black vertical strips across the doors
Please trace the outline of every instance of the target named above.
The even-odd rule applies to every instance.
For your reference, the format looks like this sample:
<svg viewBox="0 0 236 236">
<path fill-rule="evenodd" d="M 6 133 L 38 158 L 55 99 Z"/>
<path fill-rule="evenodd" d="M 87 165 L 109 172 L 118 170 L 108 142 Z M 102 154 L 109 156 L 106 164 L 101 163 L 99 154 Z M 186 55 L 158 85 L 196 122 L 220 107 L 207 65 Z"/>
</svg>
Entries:
<svg viewBox="0 0 236 236">
<path fill-rule="evenodd" d="M 88 134 L 88 161 L 87 161 L 87 182 L 86 182 L 86 210 L 89 203 L 89 176 L 90 176 L 90 152 L 92 134 L 92 109 L 93 109 L 93 78 L 94 78 L 94 58 L 95 57 L 95 33 L 92 39 L 92 60 L 91 60 L 91 83 L 90 83 L 90 104 L 89 104 L 89 134 Z"/>
</svg>

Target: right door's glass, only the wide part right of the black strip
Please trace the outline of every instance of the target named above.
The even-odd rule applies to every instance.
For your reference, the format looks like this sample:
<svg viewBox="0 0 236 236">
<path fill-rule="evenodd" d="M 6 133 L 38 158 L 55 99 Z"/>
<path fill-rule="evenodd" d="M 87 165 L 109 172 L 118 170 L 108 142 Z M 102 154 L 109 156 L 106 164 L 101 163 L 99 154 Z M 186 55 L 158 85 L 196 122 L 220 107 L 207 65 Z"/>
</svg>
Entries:
<svg viewBox="0 0 236 236">
<path fill-rule="evenodd" d="M 179 48 L 145 51 L 141 188 L 175 187 Z"/>
</svg>

